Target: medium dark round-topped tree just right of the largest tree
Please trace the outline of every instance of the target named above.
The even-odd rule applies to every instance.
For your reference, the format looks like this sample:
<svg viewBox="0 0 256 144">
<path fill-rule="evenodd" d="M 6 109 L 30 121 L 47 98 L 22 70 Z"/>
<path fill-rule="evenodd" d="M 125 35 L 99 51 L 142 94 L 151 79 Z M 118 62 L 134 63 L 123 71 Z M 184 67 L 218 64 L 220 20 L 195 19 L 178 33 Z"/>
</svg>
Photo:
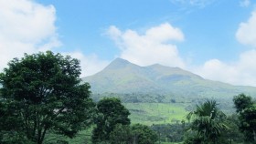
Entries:
<svg viewBox="0 0 256 144">
<path fill-rule="evenodd" d="M 91 136 L 93 143 L 109 141 L 110 133 L 117 124 L 130 125 L 130 112 L 119 98 L 103 98 L 98 102 L 97 108 L 99 115 Z"/>
</svg>

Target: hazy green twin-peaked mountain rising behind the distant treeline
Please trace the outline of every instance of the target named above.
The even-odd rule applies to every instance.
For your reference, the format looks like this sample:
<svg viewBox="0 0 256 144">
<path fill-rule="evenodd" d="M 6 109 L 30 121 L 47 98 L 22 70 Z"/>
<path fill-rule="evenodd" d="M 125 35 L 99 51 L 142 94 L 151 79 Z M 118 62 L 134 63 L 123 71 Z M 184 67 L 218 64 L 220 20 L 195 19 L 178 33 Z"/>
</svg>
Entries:
<svg viewBox="0 0 256 144">
<path fill-rule="evenodd" d="M 94 94 L 158 94 L 184 98 L 232 98 L 240 93 L 256 94 L 256 87 L 239 87 L 212 81 L 178 67 L 155 64 L 140 67 L 117 58 L 101 72 L 83 77 Z"/>
</svg>

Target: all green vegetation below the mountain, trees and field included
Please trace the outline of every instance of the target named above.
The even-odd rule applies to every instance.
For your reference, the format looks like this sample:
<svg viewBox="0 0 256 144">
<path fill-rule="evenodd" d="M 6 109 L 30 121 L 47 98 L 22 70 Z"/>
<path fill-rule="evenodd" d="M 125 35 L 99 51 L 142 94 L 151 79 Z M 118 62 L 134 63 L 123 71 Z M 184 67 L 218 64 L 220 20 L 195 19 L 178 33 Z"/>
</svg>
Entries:
<svg viewBox="0 0 256 144">
<path fill-rule="evenodd" d="M 0 74 L 0 87 L 3 144 L 256 143 L 250 96 L 235 96 L 236 112 L 229 115 L 216 100 L 194 98 L 193 105 L 173 94 L 105 93 L 92 100 L 79 60 L 50 51 L 13 59 Z"/>
</svg>

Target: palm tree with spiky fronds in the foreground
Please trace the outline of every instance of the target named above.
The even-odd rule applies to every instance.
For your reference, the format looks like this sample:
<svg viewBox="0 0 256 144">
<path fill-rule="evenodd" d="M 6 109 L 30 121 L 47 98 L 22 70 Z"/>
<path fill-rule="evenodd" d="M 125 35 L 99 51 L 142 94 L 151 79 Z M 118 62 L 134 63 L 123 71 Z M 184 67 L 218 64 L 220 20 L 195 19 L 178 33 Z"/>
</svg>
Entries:
<svg viewBox="0 0 256 144">
<path fill-rule="evenodd" d="M 190 129 L 195 131 L 195 140 L 199 143 L 217 143 L 221 136 L 221 131 L 228 129 L 225 124 L 225 114 L 217 108 L 214 100 L 206 101 L 202 105 L 197 105 L 196 110 L 187 115 L 188 120 L 192 120 Z"/>
</svg>

